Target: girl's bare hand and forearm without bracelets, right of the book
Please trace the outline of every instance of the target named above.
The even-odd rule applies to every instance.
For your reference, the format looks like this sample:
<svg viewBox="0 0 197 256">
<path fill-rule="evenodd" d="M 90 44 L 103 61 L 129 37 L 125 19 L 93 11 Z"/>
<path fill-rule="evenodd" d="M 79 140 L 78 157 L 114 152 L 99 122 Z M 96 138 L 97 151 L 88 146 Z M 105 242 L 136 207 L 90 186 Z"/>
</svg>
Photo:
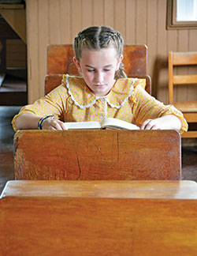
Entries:
<svg viewBox="0 0 197 256">
<path fill-rule="evenodd" d="M 141 130 L 180 130 L 181 121 L 175 115 L 164 115 L 158 119 L 147 119 Z"/>
</svg>

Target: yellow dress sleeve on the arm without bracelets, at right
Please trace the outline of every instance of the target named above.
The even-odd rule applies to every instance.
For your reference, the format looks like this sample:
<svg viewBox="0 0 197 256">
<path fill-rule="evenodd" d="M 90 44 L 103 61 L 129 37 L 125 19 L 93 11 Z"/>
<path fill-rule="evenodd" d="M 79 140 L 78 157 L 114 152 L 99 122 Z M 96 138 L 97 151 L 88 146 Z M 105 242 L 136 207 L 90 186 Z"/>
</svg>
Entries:
<svg viewBox="0 0 197 256">
<path fill-rule="evenodd" d="M 177 108 L 173 107 L 173 105 L 164 105 L 148 94 L 141 86 L 137 85 L 134 88 L 131 100 L 133 104 L 133 122 L 137 126 L 142 126 L 147 119 L 157 119 L 164 115 L 176 115 L 182 122 L 180 134 L 188 130 L 188 123 Z"/>
</svg>

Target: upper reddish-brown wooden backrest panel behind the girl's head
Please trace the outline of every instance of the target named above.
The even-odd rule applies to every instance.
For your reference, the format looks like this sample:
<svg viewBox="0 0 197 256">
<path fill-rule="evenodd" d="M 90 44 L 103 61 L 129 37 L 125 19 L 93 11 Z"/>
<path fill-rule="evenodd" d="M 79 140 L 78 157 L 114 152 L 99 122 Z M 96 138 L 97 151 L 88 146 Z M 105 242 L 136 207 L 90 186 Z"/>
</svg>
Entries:
<svg viewBox="0 0 197 256">
<path fill-rule="evenodd" d="M 50 44 L 47 47 L 47 74 L 69 73 L 78 75 L 72 62 L 74 51 L 72 44 Z M 132 75 L 147 75 L 147 46 L 125 45 L 124 59 L 125 73 Z"/>
</svg>

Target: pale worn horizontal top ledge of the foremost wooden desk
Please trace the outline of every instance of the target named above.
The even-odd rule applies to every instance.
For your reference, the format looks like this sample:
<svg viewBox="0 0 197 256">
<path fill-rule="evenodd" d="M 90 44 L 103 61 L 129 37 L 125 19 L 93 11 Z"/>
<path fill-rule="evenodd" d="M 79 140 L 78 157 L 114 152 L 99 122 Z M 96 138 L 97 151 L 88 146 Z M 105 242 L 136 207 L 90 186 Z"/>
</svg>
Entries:
<svg viewBox="0 0 197 256">
<path fill-rule="evenodd" d="M 197 199 L 193 181 L 24 181 L 6 183 L 1 198 Z"/>
</svg>

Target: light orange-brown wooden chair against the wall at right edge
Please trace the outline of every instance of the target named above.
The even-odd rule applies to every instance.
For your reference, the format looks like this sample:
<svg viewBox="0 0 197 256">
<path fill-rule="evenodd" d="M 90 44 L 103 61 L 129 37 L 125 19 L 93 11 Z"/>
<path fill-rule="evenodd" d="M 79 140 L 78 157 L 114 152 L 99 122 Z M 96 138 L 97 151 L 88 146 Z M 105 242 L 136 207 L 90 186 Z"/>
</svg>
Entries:
<svg viewBox="0 0 197 256">
<path fill-rule="evenodd" d="M 197 85 L 197 73 L 188 75 L 175 75 L 174 66 L 197 65 L 197 52 L 169 52 L 169 104 L 173 104 L 184 114 L 187 122 L 197 124 L 197 100 L 175 102 L 173 96 L 174 85 Z M 182 137 L 197 137 L 197 130 L 188 131 Z"/>
</svg>

